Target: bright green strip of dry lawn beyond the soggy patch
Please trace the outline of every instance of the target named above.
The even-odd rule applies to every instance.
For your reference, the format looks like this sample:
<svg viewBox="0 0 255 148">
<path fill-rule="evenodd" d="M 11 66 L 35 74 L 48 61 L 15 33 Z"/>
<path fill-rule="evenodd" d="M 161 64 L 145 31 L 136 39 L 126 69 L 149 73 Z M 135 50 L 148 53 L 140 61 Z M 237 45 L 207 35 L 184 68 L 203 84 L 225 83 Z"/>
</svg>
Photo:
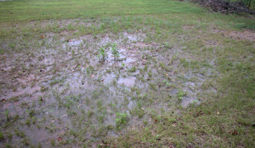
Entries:
<svg viewBox="0 0 255 148">
<path fill-rule="evenodd" d="M 188 3 L 166 0 L 23 0 L 0 3 L 0 19 L 6 21 L 31 21 L 45 19 L 97 18 L 137 14 L 201 13 L 203 9 Z M 180 5 L 181 4 L 181 5 Z M 171 9 L 169 9 L 171 8 Z M 25 10 L 25 11 L 24 11 Z"/>
</svg>

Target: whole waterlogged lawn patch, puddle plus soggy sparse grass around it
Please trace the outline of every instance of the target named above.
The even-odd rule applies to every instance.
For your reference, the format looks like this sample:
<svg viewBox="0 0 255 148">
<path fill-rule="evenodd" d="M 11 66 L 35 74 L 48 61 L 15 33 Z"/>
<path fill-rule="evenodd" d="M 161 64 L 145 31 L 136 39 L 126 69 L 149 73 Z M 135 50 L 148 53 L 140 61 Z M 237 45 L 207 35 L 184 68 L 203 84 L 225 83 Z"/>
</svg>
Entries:
<svg viewBox="0 0 255 148">
<path fill-rule="evenodd" d="M 207 40 L 206 46 L 198 45 L 203 55 L 198 56 L 179 43 L 201 36 L 177 32 L 178 38 L 162 43 L 165 33 L 153 24 L 164 28 L 171 22 L 64 20 L 41 22 L 39 27 L 32 22 L 27 27 L 36 35 L 24 30 L 15 43 L 2 42 L 2 48 L 16 52 L 1 55 L 5 138 L 0 146 L 97 147 L 105 137 L 153 125 L 165 112 L 179 116 L 182 108 L 215 94 L 219 43 Z M 42 31 L 47 27 L 51 29 Z M 166 34 L 177 36 L 175 31 Z"/>
</svg>

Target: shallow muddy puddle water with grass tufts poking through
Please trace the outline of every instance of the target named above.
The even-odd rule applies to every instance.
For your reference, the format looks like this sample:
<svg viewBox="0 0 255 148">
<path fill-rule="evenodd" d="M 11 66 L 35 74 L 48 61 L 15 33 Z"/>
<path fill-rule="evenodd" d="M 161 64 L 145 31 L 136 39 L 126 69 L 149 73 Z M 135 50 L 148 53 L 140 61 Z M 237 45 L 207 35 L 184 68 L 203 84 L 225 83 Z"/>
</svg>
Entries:
<svg viewBox="0 0 255 148">
<path fill-rule="evenodd" d="M 178 60 L 171 63 L 161 53 L 163 46 L 143 43 L 145 34 L 124 32 L 119 36 L 105 35 L 98 40 L 87 35 L 66 42 L 61 39 L 60 44 L 49 41 L 56 48 L 31 51 L 34 56 L 29 61 L 22 55 L 16 56 L 21 57 L 18 62 L 7 59 L 8 65 L 1 61 L 5 76 L 1 78 L 1 122 L 9 123 L 4 116 L 7 111 L 11 121 L 19 115 L 13 127 L 7 128 L 13 128 L 13 133 L 23 131 L 33 144 L 49 147 L 52 139 L 58 144 L 77 140 L 79 135 L 85 135 L 84 141 L 117 137 L 144 121 L 153 124 L 152 112 L 160 115 L 178 105 L 199 103 L 199 87 L 206 76 L 180 72 Z M 119 49 L 117 58 L 112 54 L 113 43 Z M 104 60 L 98 56 L 100 48 L 105 50 Z M 168 52 L 173 56 L 178 49 Z M 171 71 L 159 62 L 172 67 Z M 185 95 L 180 96 L 181 92 Z M 116 129 L 117 113 L 129 117 L 121 130 Z M 13 143 L 23 144 L 21 139 L 13 136 Z"/>
</svg>

